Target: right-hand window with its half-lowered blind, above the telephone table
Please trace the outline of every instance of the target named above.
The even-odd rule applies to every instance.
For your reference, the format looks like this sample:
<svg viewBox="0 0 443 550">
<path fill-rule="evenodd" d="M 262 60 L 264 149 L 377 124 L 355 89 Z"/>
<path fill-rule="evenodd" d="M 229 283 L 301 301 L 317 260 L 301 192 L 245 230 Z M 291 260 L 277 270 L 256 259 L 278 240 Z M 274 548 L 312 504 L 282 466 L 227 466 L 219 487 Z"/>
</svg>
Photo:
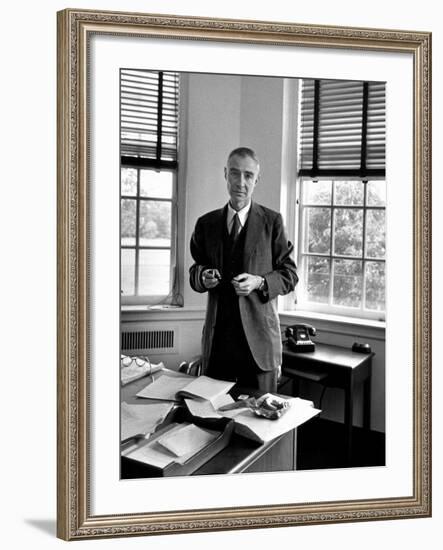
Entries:
<svg viewBox="0 0 443 550">
<path fill-rule="evenodd" d="M 384 83 L 304 80 L 300 309 L 384 319 Z"/>
</svg>

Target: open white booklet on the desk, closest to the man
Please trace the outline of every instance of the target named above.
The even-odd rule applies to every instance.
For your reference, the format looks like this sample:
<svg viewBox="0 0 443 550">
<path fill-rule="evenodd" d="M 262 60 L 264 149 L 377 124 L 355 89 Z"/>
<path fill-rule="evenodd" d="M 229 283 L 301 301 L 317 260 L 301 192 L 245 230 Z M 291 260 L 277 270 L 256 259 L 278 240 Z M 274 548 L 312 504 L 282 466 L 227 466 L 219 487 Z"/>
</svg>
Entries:
<svg viewBox="0 0 443 550">
<path fill-rule="evenodd" d="M 137 397 L 145 399 L 159 399 L 162 401 L 177 401 L 181 397 L 205 399 L 210 403 L 217 403 L 220 396 L 228 393 L 235 382 L 216 380 L 209 376 L 197 378 L 186 374 L 174 376 L 167 372 L 157 380 L 148 384 L 143 390 L 137 393 Z"/>
</svg>

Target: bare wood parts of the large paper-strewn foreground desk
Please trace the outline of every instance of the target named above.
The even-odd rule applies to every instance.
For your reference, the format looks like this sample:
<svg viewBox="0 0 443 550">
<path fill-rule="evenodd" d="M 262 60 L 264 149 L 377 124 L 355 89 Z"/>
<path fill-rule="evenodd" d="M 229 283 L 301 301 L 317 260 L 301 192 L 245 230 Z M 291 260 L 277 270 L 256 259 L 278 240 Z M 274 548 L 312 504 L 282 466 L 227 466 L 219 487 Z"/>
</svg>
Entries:
<svg viewBox="0 0 443 550">
<path fill-rule="evenodd" d="M 149 377 L 145 377 L 122 387 L 121 402 L 134 404 L 144 401 L 135 394 L 148 383 Z M 291 471 L 297 467 L 296 457 L 297 428 L 264 444 L 233 434 L 229 445 L 192 475 Z M 122 479 L 152 477 L 142 464 L 129 465 L 124 461 L 121 474 Z"/>
</svg>

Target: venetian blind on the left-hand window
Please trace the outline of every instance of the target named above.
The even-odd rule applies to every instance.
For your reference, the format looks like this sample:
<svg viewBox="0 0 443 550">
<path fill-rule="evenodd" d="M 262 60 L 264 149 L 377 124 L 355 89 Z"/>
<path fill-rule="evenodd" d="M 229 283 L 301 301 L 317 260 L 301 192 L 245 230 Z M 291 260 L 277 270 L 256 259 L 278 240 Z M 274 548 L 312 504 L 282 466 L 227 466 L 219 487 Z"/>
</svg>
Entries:
<svg viewBox="0 0 443 550">
<path fill-rule="evenodd" d="M 122 162 L 175 166 L 178 141 L 178 74 L 121 71 Z"/>
</svg>

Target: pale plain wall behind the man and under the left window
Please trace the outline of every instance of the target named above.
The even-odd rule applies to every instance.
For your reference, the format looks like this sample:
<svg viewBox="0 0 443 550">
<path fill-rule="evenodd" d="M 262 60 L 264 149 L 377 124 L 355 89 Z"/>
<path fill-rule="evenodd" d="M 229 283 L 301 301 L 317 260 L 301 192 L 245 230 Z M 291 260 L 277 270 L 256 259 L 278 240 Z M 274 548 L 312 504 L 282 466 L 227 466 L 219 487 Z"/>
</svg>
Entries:
<svg viewBox="0 0 443 550">
<path fill-rule="evenodd" d="M 182 80 L 186 122 L 180 135 L 184 155 L 180 159 L 179 188 L 181 185 L 185 189 L 181 196 L 185 215 L 184 231 L 179 232 L 179 258 L 184 265 L 185 307 L 182 312 L 122 315 L 125 330 L 141 330 L 153 324 L 166 329 L 179 324 L 176 352 L 151 355 L 151 360 L 163 361 L 170 368 L 200 353 L 207 295 L 194 292 L 189 285 L 188 271 L 193 262 L 189 242 L 197 218 L 227 202 L 227 155 L 239 145 L 257 151 L 262 175 L 254 199 L 277 210 L 282 171 L 282 79 L 192 73 L 183 75 Z"/>
</svg>

